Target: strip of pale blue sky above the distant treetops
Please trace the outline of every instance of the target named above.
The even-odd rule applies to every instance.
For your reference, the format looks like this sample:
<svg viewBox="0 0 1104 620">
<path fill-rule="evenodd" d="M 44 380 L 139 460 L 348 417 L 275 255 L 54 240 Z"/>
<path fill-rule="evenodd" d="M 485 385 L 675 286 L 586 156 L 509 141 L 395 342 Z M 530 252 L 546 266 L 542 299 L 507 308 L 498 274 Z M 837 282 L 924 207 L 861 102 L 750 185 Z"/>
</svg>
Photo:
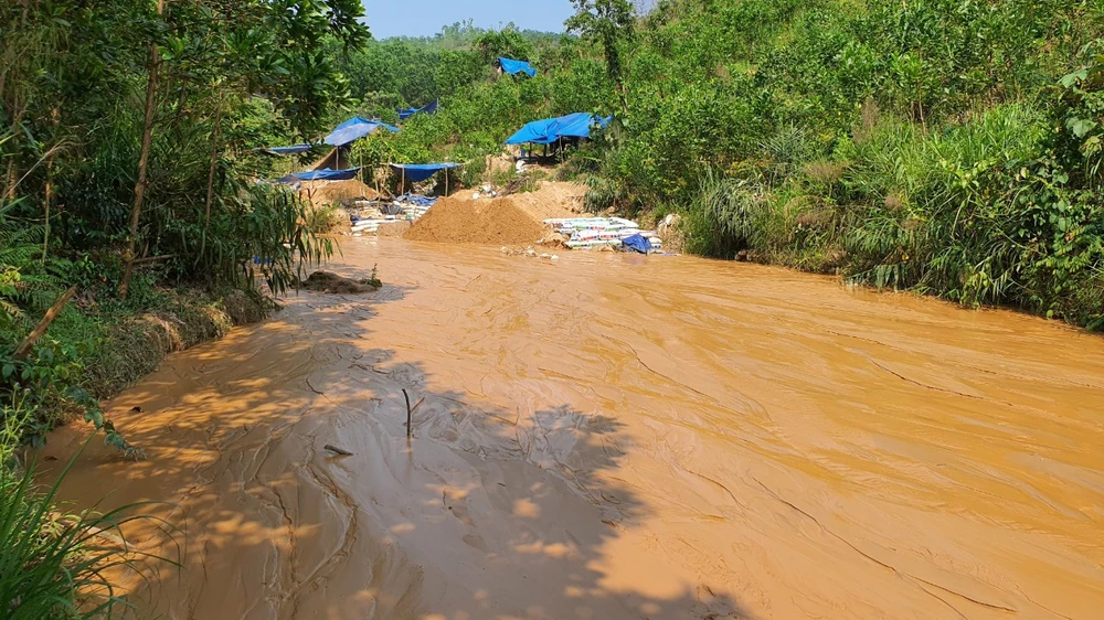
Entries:
<svg viewBox="0 0 1104 620">
<path fill-rule="evenodd" d="M 561 32 L 572 14 L 570 0 L 363 0 L 372 36 L 424 36 L 468 19 L 475 25 Z"/>
</svg>

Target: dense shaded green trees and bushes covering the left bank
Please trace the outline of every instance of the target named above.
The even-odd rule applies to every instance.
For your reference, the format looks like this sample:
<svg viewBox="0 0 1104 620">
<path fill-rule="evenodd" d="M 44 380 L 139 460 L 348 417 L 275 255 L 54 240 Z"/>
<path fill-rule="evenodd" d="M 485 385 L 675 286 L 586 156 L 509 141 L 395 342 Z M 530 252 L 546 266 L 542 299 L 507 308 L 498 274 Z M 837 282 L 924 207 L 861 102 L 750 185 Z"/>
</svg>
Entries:
<svg viewBox="0 0 1104 620">
<path fill-rule="evenodd" d="M 83 415 L 140 457 L 88 385 L 88 362 L 114 328 L 158 311 L 159 286 L 264 280 L 283 292 L 332 250 L 295 196 L 255 181 L 273 172 L 256 148 L 312 136 L 347 100 L 325 51 L 368 41 L 359 0 L 167 6 L 0 4 L 0 397 L 25 395 L 33 415 L 20 435 L 31 443 Z M 121 299 L 147 85 L 153 139 L 139 261 Z M 17 343 L 71 286 L 76 297 L 17 359 Z"/>
</svg>

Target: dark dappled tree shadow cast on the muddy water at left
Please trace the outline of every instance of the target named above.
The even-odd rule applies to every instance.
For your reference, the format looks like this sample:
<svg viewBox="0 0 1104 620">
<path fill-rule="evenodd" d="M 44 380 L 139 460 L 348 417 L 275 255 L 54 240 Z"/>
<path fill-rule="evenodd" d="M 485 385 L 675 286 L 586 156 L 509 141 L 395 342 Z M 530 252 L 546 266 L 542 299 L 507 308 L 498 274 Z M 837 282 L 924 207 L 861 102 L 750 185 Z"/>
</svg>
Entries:
<svg viewBox="0 0 1104 620">
<path fill-rule="evenodd" d="M 375 307 L 408 292 L 307 295 L 226 343 L 172 359 L 117 399 L 142 407 L 117 423 L 149 460 L 89 450 L 66 489 L 172 503 L 162 516 L 180 527 L 184 568 L 162 568 L 142 589 L 152 611 L 744 617 L 702 582 L 626 557 L 620 539 L 651 512 L 618 479 L 634 449 L 623 421 L 570 404 L 479 403 L 463 386 L 442 389 L 424 363 L 373 348 Z M 149 545 L 158 534 L 134 536 Z"/>
</svg>

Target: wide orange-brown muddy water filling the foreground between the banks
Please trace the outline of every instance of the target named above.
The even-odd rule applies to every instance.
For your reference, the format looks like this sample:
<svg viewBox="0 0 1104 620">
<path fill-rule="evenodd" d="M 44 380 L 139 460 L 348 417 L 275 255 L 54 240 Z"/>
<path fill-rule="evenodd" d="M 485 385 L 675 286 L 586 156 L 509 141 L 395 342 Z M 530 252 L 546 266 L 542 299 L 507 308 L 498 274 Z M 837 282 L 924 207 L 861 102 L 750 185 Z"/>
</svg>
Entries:
<svg viewBox="0 0 1104 620">
<path fill-rule="evenodd" d="M 110 404 L 149 460 L 67 480 L 172 504 L 155 614 L 1104 614 L 1104 339 L 693 258 L 343 252 L 386 287 L 172 356 Z"/>
</svg>

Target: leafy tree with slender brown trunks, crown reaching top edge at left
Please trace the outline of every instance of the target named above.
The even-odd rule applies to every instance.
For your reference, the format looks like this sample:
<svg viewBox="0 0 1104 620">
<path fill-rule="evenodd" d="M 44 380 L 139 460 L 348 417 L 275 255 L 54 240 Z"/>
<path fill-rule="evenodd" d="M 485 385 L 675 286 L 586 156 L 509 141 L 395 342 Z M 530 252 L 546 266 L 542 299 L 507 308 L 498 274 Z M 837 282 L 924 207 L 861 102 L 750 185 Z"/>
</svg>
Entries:
<svg viewBox="0 0 1104 620">
<path fill-rule="evenodd" d="M 348 81 L 325 52 L 328 41 L 344 50 L 369 39 L 360 23 L 359 0 L 237 0 L 182 2 L 157 0 L 158 33 L 151 38 L 147 62 L 146 116 L 135 182 L 134 205 L 124 252 L 126 265 L 119 284 L 126 297 L 134 261 L 138 258 L 139 225 L 146 202 L 149 157 L 158 121 L 158 100 L 166 90 L 177 94 L 171 118 L 206 122 L 211 138 L 204 194 L 204 237 L 210 228 L 214 181 L 226 107 L 263 94 L 277 111 L 302 133 L 316 129 L 331 105 L 348 96 Z M 161 82 L 167 84 L 161 85 Z M 197 97 L 210 117 L 195 118 Z M 211 105 L 213 103 L 213 105 Z M 163 124 L 166 121 L 161 121 Z"/>
</svg>

